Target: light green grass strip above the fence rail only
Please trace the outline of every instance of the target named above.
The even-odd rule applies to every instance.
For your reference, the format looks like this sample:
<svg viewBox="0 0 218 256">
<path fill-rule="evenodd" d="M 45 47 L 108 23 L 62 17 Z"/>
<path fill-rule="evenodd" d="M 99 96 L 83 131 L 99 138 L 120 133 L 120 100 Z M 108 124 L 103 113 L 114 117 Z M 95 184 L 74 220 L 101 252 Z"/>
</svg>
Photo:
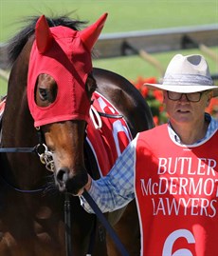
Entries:
<svg viewBox="0 0 218 256">
<path fill-rule="evenodd" d="M 19 28 L 18 20 L 32 14 L 75 10 L 73 17 L 94 22 L 108 12 L 103 32 L 154 30 L 214 24 L 218 21 L 217 0 L 0 0 L 0 41 Z"/>
</svg>

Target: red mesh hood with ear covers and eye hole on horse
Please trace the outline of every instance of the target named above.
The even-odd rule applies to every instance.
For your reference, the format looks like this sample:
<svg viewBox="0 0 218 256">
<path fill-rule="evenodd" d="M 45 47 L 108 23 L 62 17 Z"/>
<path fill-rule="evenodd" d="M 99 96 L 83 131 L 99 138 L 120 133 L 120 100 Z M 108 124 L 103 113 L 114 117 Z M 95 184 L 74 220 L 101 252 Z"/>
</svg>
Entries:
<svg viewBox="0 0 218 256">
<path fill-rule="evenodd" d="M 91 50 L 99 38 L 107 14 L 86 28 L 76 31 L 62 26 L 48 28 L 41 16 L 35 28 L 28 67 L 27 100 L 34 126 L 66 120 L 88 120 L 90 102 L 85 82 L 92 71 Z M 58 86 L 57 98 L 50 106 L 36 105 L 34 90 L 41 73 L 51 75 Z"/>
</svg>

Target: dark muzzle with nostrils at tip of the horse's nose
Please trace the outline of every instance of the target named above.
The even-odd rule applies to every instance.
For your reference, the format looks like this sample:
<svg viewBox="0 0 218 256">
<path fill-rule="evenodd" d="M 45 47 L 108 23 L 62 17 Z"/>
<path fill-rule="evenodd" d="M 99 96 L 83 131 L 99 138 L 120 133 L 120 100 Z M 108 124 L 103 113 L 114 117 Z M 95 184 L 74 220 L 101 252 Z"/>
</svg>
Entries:
<svg viewBox="0 0 218 256">
<path fill-rule="evenodd" d="M 80 168 L 79 171 L 72 171 L 67 167 L 62 167 L 57 170 L 55 180 L 60 191 L 67 191 L 76 195 L 88 182 L 88 175 L 84 168 Z"/>
</svg>

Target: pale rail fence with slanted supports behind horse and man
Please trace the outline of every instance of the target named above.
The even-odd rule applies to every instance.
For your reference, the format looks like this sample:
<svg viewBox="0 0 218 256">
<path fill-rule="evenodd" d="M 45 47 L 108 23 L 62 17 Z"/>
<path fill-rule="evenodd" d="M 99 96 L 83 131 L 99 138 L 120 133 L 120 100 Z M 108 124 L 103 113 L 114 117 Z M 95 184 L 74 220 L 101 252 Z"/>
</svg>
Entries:
<svg viewBox="0 0 218 256">
<path fill-rule="evenodd" d="M 218 24 L 101 34 L 95 49 L 98 58 L 138 54 L 163 73 L 162 65 L 152 53 L 197 48 L 218 65 L 218 53 L 211 47 L 218 47 Z M 6 48 L 6 44 L 0 43 L 0 77 L 8 79 Z M 218 79 L 218 74 L 212 75 L 214 79 Z"/>
</svg>

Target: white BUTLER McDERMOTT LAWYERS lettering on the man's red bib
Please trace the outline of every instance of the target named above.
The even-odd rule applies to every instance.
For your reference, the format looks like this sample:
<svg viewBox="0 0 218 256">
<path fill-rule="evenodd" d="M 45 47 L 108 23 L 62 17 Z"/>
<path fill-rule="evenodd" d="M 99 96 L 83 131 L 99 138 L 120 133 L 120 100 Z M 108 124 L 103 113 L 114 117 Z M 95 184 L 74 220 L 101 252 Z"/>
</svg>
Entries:
<svg viewBox="0 0 218 256">
<path fill-rule="evenodd" d="M 217 163 L 197 158 L 193 166 L 192 161 L 191 157 L 158 158 L 158 179 L 140 180 L 142 194 L 151 196 L 154 215 L 216 216 Z"/>
</svg>

